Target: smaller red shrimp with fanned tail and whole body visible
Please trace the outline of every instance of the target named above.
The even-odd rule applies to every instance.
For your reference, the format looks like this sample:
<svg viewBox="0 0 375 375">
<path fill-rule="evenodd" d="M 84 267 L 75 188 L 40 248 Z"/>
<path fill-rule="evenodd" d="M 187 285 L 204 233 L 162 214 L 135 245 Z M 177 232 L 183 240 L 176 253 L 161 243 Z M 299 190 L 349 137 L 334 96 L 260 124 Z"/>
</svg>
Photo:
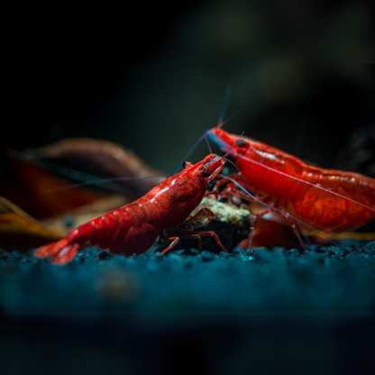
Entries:
<svg viewBox="0 0 375 375">
<path fill-rule="evenodd" d="M 187 220 L 188 215 L 200 204 L 203 197 L 215 194 L 215 192 L 206 192 L 206 188 L 210 181 L 217 177 L 223 166 L 224 157 L 214 154 L 206 156 L 195 165 L 185 160 L 183 170 L 162 181 L 145 196 L 78 226 L 62 240 L 42 246 L 34 252 L 34 255 L 41 258 L 50 257 L 52 263 L 63 265 L 73 260 L 85 242 L 102 249 L 108 248 L 114 254 L 120 252 L 125 255 L 142 254 L 151 247 L 158 235 L 165 238 L 164 230 L 169 233 L 169 228 L 191 221 L 204 211 L 210 215 L 210 218 L 215 216 L 208 208 L 202 208 Z M 201 251 L 201 236 L 213 236 L 215 242 L 226 252 L 213 232 L 175 229 L 183 234 L 169 237 L 171 243 L 162 252 L 163 254 L 169 252 L 179 238 L 198 239 L 199 251 Z"/>
</svg>

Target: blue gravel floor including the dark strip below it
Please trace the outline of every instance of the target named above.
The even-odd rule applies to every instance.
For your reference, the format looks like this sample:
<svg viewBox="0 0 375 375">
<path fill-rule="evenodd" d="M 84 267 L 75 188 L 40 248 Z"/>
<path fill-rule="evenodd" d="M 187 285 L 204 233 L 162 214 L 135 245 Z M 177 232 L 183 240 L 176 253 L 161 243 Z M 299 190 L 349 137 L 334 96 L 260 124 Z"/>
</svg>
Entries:
<svg viewBox="0 0 375 375">
<path fill-rule="evenodd" d="M 374 255 L 375 242 L 307 255 L 91 248 L 64 267 L 2 255 L 0 369 L 374 373 Z"/>
</svg>

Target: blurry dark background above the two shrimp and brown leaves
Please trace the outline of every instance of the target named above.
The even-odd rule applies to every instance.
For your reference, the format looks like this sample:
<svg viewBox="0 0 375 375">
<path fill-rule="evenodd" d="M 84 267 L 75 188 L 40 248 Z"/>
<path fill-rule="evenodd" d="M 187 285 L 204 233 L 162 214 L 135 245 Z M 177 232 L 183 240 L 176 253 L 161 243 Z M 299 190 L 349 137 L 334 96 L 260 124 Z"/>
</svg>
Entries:
<svg viewBox="0 0 375 375">
<path fill-rule="evenodd" d="M 48 43 L 37 23 L 5 41 L 3 145 L 104 138 L 173 170 L 202 133 L 195 110 L 215 126 L 228 85 L 227 116 L 250 105 L 225 130 L 325 168 L 354 129 L 373 123 L 370 5 L 196 2 L 146 14 L 138 6 L 106 22 L 87 17 L 87 34 L 76 32 L 79 20 L 53 20 Z M 194 161 L 207 152 L 201 146 Z"/>
</svg>

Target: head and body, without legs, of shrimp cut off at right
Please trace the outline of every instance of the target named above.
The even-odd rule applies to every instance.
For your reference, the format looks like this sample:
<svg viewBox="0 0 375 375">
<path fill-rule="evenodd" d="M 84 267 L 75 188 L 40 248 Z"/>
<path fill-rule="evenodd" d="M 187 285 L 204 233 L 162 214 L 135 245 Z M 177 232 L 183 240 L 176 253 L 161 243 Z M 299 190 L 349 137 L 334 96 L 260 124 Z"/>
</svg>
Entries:
<svg viewBox="0 0 375 375">
<path fill-rule="evenodd" d="M 246 137 L 239 140 L 220 125 L 209 136 L 224 151 L 231 150 L 244 183 L 262 202 L 316 230 L 341 233 L 375 217 L 373 178 L 306 165 L 267 144 Z"/>
</svg>

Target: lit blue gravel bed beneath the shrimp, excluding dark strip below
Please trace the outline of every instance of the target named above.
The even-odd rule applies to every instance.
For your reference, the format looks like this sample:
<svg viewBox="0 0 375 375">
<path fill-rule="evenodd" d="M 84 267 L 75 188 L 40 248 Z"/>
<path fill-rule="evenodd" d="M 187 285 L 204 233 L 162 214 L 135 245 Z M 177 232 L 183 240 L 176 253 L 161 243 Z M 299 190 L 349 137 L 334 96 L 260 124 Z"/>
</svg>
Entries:
<svg viewBox="0 0 375 375">
<path fill-rule="evenodd" d="M 4 312 L 370 312 L 375 242 L 126 258 L 97 248 L 64 266 L 0 256 Z"/>
</svg>

